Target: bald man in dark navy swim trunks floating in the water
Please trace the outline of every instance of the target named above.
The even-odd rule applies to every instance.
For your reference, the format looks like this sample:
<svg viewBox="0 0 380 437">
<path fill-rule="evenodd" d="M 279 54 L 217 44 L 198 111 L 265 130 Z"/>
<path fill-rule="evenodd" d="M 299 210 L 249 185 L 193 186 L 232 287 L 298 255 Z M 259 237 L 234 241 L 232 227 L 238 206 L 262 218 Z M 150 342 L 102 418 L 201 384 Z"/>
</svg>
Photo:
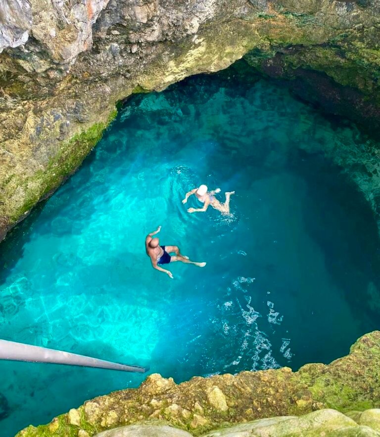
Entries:
<svg viewBox="0 0 380 437">
<path fill-rule="evenodd" d="M 194 266 L 204 267 L 206 263 L 194 263 L 180 253 L 178 246 L 160 246 L 160 240 L 153 235 L 157 234 L 161 230 L 161 226 L 157 227 L 157 230 L 150 232 L 145 238 L 145 250 L 146 255 L 150 258 L 153 269 L 159 270 L 160 272 L 166 273 L 173 279 L 173 275 L 169 270 L 165 270 L 160 267 L 163 264 L 174 263 L 175 261 L 181 261 L 182 263 L 194 264 Z M 175 253 L 175 255 L 170 256 L 170 253 Z"/>
</svg>

